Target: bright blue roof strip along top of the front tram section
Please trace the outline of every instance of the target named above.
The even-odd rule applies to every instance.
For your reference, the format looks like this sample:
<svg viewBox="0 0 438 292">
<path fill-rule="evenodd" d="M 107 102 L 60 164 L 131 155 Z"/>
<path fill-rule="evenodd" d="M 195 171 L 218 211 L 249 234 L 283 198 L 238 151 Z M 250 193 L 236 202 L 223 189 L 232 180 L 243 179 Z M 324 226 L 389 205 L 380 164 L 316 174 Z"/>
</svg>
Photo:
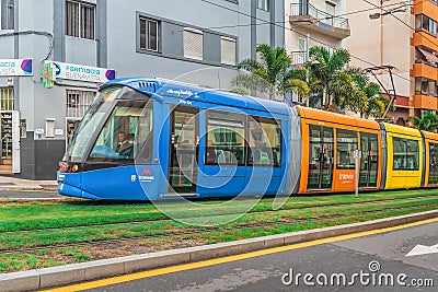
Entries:
<svg viewBox="0 0 438 292">
<path fill-rule="evenodd" d="M 147 95 L 158 94 L 161 96 L 175 97 L 180 100 L 199 101 L 215 105 L 289 115 L 288 105 L 284 102 L 268 101 L 223 90 L 200 87 L 195 84 L 175 82 L 166 79 L 124 78 L 110 81 L 103 84 L 101 87 L 115 84 L 129 86 Z"/>
</svg>

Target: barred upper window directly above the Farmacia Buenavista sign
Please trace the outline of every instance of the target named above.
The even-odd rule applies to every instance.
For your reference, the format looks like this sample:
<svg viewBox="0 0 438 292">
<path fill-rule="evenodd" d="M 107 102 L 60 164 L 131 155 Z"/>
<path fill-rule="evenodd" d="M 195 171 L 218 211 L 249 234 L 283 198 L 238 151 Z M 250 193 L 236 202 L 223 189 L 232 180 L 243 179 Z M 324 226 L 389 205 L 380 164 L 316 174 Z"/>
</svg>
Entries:
<svg viewBox="0 0 438 292">
<path fill-rule="evenodd" d="M 95 5 L 67 1 L 66 34 L 69 36 L 94 39 Z"/>
</svg>

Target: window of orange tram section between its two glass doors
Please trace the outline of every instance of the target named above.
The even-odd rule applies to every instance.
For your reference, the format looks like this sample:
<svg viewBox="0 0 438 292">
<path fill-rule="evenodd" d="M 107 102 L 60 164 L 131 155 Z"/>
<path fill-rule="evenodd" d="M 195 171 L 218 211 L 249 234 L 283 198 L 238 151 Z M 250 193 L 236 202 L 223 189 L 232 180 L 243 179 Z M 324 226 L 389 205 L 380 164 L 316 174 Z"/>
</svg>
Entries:
<svg viewBox="0 0 438 292">
<path fill-rule="evenodd" d="M 355 157 L 353 153 L 357 150 L 357 133 L 349 130 L 336 130 L 337 136 L 337 163 L 338 170 L 354 170 Z"/>
</svg>

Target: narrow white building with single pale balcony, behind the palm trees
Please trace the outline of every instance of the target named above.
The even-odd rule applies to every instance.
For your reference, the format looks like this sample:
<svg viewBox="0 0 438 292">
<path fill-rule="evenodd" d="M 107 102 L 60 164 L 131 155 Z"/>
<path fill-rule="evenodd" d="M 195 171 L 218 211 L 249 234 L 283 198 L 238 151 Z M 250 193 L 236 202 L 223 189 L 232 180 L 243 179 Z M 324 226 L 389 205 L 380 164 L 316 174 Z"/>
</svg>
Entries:
<svg viewBox="0 0 438 292">
<path fill-rule="evenodd" d="M 296 66 L 304 63 L 313 46 L 330 50 L 343 48 L 350 35 L 346 0 L 288 0 L 286 10 L 286 48 Z"/>
</svg>

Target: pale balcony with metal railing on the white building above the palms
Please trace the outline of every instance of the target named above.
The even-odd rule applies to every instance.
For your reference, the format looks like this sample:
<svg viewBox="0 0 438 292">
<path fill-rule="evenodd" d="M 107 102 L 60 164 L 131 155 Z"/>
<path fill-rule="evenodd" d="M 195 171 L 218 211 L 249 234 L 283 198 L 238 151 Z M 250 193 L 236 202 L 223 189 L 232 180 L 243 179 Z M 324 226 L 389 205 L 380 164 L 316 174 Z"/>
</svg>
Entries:
<svg viewBox="0 0 438 292">
<path fill-rule="evenodd" d="M 289 22 L 292 26 L 306 27 L 337 39 L 350 35 L 347 19 L 331 15 L 312 4 L 291 3 Z"/>
</svg>

